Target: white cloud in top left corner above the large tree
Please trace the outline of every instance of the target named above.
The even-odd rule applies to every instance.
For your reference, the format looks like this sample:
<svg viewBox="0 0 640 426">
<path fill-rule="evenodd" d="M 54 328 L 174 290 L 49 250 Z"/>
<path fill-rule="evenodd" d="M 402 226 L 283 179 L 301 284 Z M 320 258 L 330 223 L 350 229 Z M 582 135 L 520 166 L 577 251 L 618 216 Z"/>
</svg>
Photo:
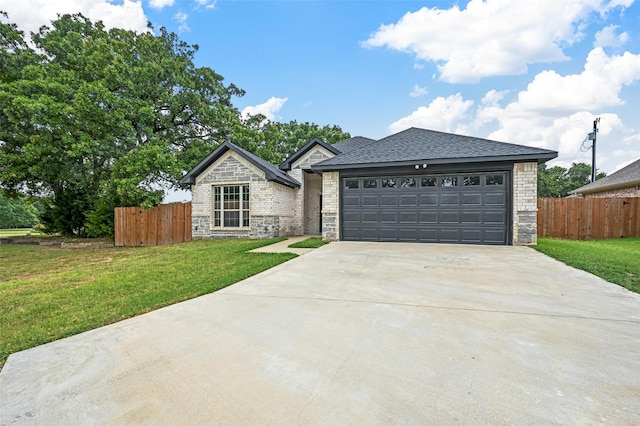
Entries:
<svg viewBox="0 0 640 426">
<path fill-rule="evenodd" d="M 0 0 L 0 10 L 7 12 L 9 21 L 27 36 L 65 13 L 82 13 L 92 21 L 104 22 L 107 28 L 148 31 L 148 18 L 140 0 L 122 0 L 120 4 L 110 0 Z"/>
</svg>

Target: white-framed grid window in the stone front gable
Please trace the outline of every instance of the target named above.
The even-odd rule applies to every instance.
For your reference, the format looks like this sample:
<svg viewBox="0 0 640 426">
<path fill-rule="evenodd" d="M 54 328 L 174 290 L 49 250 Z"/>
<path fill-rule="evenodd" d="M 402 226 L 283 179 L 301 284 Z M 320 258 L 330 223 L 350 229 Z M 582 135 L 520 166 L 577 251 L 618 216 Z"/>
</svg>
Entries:
<svg viewBox="0 0 640 426">
<path fill-rule="evenodd" d="M 213 226 L 249 226 L 249 185 L 213 187 Z"/>
</svg>

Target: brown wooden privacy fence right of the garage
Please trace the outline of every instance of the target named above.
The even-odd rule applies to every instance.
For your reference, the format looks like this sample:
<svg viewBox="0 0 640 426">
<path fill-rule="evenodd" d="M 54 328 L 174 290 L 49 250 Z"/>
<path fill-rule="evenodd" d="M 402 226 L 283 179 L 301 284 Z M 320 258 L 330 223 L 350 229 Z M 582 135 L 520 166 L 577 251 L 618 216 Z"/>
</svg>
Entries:
<svg viewBox="0 0 640 426">
<path fill-rule="evenodd" d="M 538 236 L 640 237 L 640 198 L 538 198 Z"/>
</svg>

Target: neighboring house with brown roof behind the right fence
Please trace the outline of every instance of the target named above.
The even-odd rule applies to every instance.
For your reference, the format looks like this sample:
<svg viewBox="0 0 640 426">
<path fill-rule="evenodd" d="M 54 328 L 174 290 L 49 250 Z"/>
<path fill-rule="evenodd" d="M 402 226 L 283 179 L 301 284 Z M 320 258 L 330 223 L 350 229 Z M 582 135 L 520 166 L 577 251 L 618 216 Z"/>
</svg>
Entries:
<svg viewBox="0 0 640 426">
<path fill-rule="evenodd" d="M 640 197 L 640 159 L 615 173 L 591 182 L 571 194 L 590 197 Z"/>
</svg>

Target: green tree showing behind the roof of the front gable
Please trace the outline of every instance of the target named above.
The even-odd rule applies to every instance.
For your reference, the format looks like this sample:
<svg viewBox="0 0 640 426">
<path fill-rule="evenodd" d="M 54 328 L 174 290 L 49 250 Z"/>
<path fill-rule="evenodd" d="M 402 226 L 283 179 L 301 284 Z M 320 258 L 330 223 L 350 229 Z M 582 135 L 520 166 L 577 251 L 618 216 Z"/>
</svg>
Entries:
<svg viewBox="0 0 640 426">
<path fill-rule="evenodd" d="M 315 137 L 332 144 L 351 136 L 335 125 L 320 127 L 296 120 L 280 123 L 257 114 L 236 124 L 231 141 L 267 161 L 279 164 Z"/>
</svg>

